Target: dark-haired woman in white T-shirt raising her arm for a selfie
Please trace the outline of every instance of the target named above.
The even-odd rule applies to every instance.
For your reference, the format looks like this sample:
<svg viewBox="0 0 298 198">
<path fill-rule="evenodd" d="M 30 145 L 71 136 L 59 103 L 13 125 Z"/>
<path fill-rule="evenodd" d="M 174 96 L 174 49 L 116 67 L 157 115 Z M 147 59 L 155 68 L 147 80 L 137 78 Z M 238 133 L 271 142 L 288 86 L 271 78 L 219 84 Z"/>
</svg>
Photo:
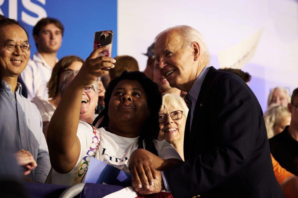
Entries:
<svg viewBox="0 0 298 198">
<path fill-rule="evenodd" d="M 114 67 L 113 58 L 96 58 L 102 50 L 105 47 L 94 50 L 85 61 L 64 91 L 49 124 L 48 147 L 54 169 L 52 183 L 83 182 L 80 172 L 88 168 L 87 154 L 131 173 L 136 183 L 149 189 L 154 185 L 154 178 L 161 177 L 156 170 L 181 163 L 171 145 L 156 140 L 162 102 L 156 83 L 142 72 L 123 72 L 106 89 L 105 110 L 99 115 L 103 119 L 98 131 L 79 121 L 83 88 L 97 77 L 107 75 L 108 71 L 103 68 Z"/>
</svg>

